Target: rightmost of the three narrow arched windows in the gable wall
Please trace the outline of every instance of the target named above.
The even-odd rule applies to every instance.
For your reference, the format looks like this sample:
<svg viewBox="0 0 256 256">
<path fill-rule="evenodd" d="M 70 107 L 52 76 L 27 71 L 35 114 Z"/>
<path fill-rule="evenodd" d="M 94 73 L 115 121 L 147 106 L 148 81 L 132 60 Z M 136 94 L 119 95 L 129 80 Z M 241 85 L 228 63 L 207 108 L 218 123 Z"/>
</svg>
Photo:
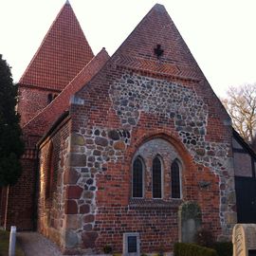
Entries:
<svg viewBox="0 0 256 256">
<path fill-rule="evenodd" d="M 174 160 L 171 166 L 172 197 L 181 198 L 180 165 Z"/>
</svg>

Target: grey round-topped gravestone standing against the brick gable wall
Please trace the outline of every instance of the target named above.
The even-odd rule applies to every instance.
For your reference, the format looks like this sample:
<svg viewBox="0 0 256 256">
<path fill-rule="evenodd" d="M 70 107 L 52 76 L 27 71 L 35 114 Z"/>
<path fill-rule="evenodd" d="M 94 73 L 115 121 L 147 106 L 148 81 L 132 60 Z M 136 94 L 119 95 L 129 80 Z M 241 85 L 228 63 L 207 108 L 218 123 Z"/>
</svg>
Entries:
<svg viewBox="0 0 256 256">
<path fill-rule="evenodd" d="M 194 242 L 194 236 L 202 225 L 202 212 L 196 202 L 185 202 L 179 208 L 179 241 Z"/>
</svg>

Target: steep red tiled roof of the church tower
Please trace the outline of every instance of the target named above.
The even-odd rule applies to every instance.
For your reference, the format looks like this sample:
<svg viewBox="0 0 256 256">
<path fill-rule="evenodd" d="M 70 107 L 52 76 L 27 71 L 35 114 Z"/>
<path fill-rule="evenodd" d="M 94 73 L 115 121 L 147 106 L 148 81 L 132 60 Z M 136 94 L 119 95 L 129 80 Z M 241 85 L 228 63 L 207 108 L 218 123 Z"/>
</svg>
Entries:
<svg viewBox="0 0 256 256">
<path fill-rule="evenodd" d="M 68 1 L 35 53 L 21 84 L 62 90 L 94 57 Z"/>
</svg>

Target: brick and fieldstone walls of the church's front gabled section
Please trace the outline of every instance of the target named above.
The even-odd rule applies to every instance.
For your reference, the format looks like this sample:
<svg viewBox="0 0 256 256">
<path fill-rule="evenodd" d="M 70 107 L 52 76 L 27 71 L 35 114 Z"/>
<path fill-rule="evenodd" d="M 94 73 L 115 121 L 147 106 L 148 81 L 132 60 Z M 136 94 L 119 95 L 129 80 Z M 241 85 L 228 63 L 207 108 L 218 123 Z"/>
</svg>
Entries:
<svg viewBox="0 0 256 256">
<path fill-rule="evenodd" d="M 163 56 L 155 46 L 163 46 Z M 106 245 L 121 252 L 125 232 L 139 233 L 143 252 L 171 251 L 180 237 L 178 210 L 187 201 L 199 205 L 203 228 L 229 239 L 236 223 L 229 116 L 162 6 L 75 93 L 69 117 L 54 125 L 40 145 L 38 229 L 65 253 L 92 254 Z M 28 136 L 28 144 L 36 142 Z M 164 175 L 157 200 L 156 153 Z M 132 198 L 138 154 L 146 168 L 142 199 Z M 182 165 L 180 199 L 170 192 L 174 157 Z"/>
</svg>

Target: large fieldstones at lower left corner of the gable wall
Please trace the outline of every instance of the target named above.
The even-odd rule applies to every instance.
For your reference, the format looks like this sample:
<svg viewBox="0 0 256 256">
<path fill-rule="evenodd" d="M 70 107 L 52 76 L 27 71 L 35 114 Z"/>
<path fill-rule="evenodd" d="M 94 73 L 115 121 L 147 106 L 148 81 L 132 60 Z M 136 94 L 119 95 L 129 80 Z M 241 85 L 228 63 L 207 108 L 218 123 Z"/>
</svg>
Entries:
<svg viewBox="0 0 256 256">
<path fill-rule="evenodd" d="M 82 128 L 72 134 L 69 180 L 73 182 L 67 186 L 65 210 L 68 247 L 95 247 L 98 238 L 98 233 L 93 231 L 97 214 L 96 175 L 107 171 L 107 162 L 117 162 L 123 157 L 129 143 L 130 132 L 125 129 Z M 73 225 L 70 219 L 74 220 Z"/>
</svg>

